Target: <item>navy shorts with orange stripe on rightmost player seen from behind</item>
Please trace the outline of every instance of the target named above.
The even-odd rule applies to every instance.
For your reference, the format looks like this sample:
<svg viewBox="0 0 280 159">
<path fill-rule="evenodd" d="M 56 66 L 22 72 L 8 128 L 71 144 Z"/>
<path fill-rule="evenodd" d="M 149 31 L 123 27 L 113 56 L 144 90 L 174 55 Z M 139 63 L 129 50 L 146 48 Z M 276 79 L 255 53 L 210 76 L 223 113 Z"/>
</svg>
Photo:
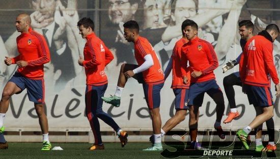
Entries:
<svg viewBox="0 0 280 159">
<path fill-rule="evenodd" d="M 244 90 L 250 104 L 255 107 L 267 107 L 273 105 L 273 98 L 269 87 L 251 86 L 244 84 Z"/>
</svg>

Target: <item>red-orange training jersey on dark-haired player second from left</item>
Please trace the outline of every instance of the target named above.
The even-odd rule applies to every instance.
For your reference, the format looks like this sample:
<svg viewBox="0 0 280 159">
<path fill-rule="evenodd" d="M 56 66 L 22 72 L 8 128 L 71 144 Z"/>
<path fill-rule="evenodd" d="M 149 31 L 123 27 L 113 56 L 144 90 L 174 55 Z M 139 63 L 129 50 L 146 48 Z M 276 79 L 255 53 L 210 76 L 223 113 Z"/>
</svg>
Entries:
<svg viewBox="0 0 280 159">
<path fill-rule="evenodd" d="M 108 81 L 104 69 L 114 59 L 114 56 L 94 33 L 86 38 L 87 42 L 83 48 L 83 57 L 85 58 L 83 66 L 86 70 L 87 85 L 105 85 Z"/>
</svg>

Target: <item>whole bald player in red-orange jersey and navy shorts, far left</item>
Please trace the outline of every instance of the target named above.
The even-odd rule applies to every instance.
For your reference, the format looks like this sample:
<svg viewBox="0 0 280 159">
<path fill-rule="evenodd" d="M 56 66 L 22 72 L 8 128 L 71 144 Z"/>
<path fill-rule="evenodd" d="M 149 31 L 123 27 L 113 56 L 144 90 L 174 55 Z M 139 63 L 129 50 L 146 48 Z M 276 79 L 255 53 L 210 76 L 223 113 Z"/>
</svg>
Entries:
<svg viewBox="0 0 280 159">
<path fill-rule="evenodd" d="M 19 55 L 14 58 L 5 57 L 7 66 L 16 64 L 17 71 L 6 84 L 0 101 L 0 148 L 8 148 L 4 139 L 4 119 L 9 108 L 9 99 L 13 94 L 21 93 L 25 88 L 29 100 L 34 102 L 34 107 L 39 118 L 43 133 L 43 147 L 41 150 L 50 150 L 48 139 L 48 120 L 44 113 L 44 64 L 50 61 L 49 49 L 42 35 L 31 28 L 31 18 L 28 14 L 19 14 L 15 26 L 21 34 L 16 38 Z"/>
</svg>

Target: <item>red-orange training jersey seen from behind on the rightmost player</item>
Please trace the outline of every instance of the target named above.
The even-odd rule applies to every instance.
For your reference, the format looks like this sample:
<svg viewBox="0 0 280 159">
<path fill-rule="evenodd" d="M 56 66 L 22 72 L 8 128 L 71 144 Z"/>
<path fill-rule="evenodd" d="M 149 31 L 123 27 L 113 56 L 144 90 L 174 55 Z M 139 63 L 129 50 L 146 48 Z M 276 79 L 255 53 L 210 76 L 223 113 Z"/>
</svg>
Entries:
<svg viewBox="0 0 280 159">
<path fill-rule="evenodd" d="M 247 41 L 239 64 L 240 78 L 243 83 L 270 87 L 268 74 L 274 84 L 279 83 L 272 50 L 272 42 L 264 36 L 257 35 Z"/>
</svg>

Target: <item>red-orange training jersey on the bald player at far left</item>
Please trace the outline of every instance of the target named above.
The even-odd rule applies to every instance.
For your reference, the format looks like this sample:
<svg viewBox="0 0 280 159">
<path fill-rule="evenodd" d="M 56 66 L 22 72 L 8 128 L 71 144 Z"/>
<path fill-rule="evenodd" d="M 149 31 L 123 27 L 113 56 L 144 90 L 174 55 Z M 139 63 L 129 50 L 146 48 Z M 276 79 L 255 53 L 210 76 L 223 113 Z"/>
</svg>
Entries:
<svg viewBox="0 0 280 159">
<path fill-rule="evenodd" d="M 26 61 L 26 67 L 19 67 L 17 72 L 32 80 L 44 77 L 44 64 L 50 61 L 49 48 L 45 38 L 29 28 L 29 33 L 22 33 L 16 38 L 19 55 L 12 58 L 12 64 Z"/>
</svg>

